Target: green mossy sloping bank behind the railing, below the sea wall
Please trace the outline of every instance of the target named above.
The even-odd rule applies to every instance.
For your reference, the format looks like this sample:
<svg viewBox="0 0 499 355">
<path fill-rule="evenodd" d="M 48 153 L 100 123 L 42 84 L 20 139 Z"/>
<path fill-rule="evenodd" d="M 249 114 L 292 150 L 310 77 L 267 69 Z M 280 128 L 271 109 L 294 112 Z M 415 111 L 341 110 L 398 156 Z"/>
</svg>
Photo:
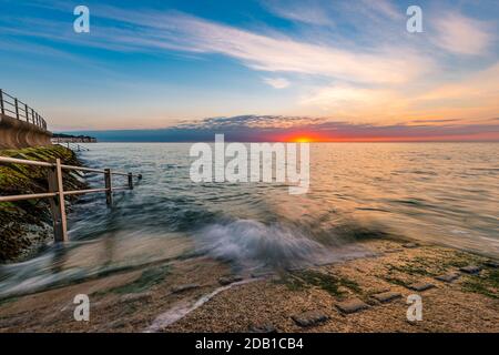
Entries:
<svg viewBox="0 0 499 355">
<path fill-rule="evenodd" d="M 2 150 L 2 156 L 80 165 L 69 149 L 61 145 Z M 0 165 L 0 194 L 17 195 L 47 192 L 47 168 L 23 164 Z M 75 172 L 64 172 L 64 190 L 85 185 Z M 0 263 L 26 258 L 52 237 L 52 219 L 48 200 L 0 203 Z"/>
</svg>

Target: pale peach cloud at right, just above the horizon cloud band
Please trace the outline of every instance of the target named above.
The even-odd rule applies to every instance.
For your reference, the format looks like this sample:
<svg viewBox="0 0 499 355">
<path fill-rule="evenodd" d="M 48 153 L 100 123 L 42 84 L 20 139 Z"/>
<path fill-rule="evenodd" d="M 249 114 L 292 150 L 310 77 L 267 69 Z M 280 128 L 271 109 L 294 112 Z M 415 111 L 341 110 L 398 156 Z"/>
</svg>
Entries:
<svg viewBox="0 0 499 355">
<path fill-rule="evenodd" d="M 349 84 L 318 87 L 302 95 L 301 104 L 335 118 L 361 122 L 448 120 L 495 116 L 499 112 L 499 62 L 454 80 L 399 88 Z"/>
</svg>

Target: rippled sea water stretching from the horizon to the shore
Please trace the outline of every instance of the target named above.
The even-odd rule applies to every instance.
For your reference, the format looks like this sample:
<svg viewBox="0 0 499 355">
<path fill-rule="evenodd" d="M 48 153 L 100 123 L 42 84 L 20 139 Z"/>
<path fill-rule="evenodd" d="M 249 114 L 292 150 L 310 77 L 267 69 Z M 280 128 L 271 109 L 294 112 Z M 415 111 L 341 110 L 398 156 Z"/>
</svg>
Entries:
<svg viewBox="0 0 499 355">
<path fill-rule="evenodd" d="M 196 255 L 243 271 L 328 263 L 390 235 L 499 256 L 498 143 L 312 144 L 303 195 L 283 183 L 193 183 L 190 144 L 88 146 L 86 165 L 143 180 L 116 193 L 113 209 L 102 195 L 82 197 L 71 242 L 1 266 L 0 296 Z"/>
</svg>

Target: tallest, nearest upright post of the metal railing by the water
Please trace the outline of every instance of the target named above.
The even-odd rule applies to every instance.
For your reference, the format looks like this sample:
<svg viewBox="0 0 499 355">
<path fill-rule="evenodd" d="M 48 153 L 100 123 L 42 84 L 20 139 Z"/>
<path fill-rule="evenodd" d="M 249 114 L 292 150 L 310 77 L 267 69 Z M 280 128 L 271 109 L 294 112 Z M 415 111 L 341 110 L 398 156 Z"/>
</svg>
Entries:
<svg viewBox="0 0 499 355">
<path fill-rule="evenodd" d="M 68 222 L 65 220 L 64 186 L 62 185 L 61 160 L 55 160 L 55 166 L 49 170 L 49 190 L 57 192 L 50 199 L 50 210 L 53 219 L 53 234 L 55 242 L 68 241 Z"/>
</svg>

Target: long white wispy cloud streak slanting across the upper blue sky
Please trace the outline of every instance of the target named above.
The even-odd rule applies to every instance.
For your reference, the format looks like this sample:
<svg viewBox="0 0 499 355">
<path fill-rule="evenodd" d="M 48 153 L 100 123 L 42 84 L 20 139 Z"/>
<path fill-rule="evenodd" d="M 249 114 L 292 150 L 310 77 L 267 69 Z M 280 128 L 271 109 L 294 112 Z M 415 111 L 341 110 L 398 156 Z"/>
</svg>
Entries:
<svg viewBox="0 0 499 355">
<path fill-rule="evenodd" d="M 432 60 L 414 50 L 397 47 L 363 50 L 322 45 L 284 34 L 256 33 L 179 12 L 135 13 L 116 8 L 98 8 L 95 16 L 133 26 L 93 27 L 85 39 L 68 33 L 67 23 L 50 23 L 43 32 L 23 34 L 108 48 L 111 50 L 177 50 L 221 53 L 244 65 L 267 72 L 322 75 L 354 82 L 403 83 L 434 68 Z M 6 31 L 9 31 L 6 29 Z M 65 34 L 64 34 L 65 33 Z"/>
</svg>

